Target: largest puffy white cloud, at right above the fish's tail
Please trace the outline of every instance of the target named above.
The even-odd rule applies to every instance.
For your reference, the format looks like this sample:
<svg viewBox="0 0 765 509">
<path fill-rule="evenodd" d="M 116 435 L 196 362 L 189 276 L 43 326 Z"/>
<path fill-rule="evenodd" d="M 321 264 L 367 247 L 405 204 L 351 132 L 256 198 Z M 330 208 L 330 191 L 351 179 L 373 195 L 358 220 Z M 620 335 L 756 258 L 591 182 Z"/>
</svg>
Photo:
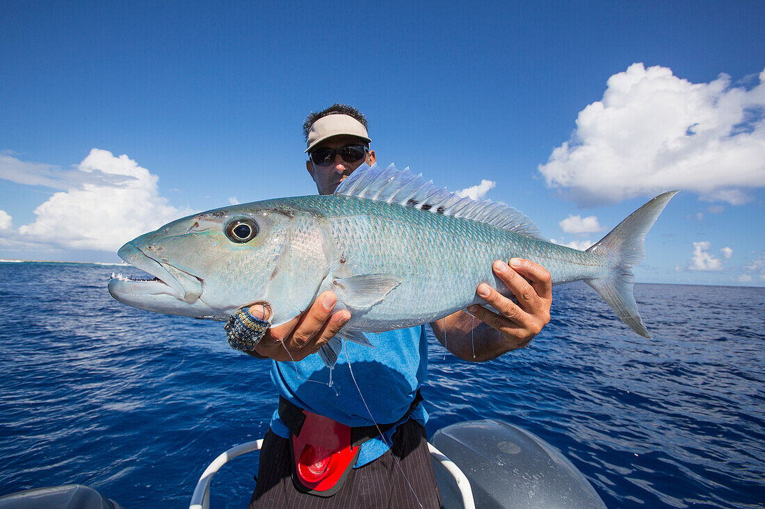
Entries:
<svg viewBox="0 0 765 509">
<path fill-rule="evenodd" d="M 582 205 L 681 189 L 734 205 L 765 186 L 765 70 L 750 89 L 721 74 L 691 83 L 633 63 L 579 112 L 569 141 L 539 165 Z"/>
</svg>

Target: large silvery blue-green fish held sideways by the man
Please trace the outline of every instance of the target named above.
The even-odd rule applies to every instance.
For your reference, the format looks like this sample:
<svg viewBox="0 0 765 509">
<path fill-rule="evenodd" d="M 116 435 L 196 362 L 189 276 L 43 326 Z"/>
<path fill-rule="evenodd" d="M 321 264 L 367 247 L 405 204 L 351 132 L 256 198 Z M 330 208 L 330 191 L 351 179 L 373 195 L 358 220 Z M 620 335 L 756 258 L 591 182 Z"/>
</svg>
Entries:
<svg viewBox="0 0 765 509">
<path fill-rule="evenodd" d="M 486 283 L 512 292 L 495 260 L 527 258 L 552 284 L 584 280 L 640 336 L 651 338 L 633 297 L 631 270 L 669 191 L 580 251 L 540 235 L 504 203 L 459 196 L 415 175 L 363 165 L 331 195 L 226 206 L 170 222 L 119 249 L 153 279 L 112 277 L 112 297 L 138 309 L 226 320 L 239 307 L 268 303 L 272 326 L 303 313 L 332 290 L 350 320 L 318 352 L 332 368 L 342 340 L 372 346 L 364 332 L 432 323 L 473 304 Z"/>
</svg>

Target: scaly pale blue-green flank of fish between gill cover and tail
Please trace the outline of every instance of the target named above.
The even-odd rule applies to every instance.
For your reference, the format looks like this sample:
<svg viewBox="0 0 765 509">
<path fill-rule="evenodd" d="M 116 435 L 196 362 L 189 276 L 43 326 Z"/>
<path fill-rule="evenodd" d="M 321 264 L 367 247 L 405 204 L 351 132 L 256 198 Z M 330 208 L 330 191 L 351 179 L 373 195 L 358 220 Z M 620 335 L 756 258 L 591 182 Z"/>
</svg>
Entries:
<svg viewBox="0 0 765 509">
<path fill-rule="evenodd" d="M 368 199 L 309 197 L 296 209 L 342 209 L 331 219 L 332 237 L 353 274 L 397 274 L 402 284 L 352 324 L 366 332 L 430 323 L 482 300 L 475 291 L 494 277 L 493 261 L 528 258 L 550 271 L 553 284 L 596 277 L 607 269 L 601 254 L 539 241 L 470 219 L 438 217 L 422 209 L 389 206 Z M 444 256 L 444 253 L 448 255 Z M 448 289 L 448 290 L 447 290 Z M 400 302 L 408 303 L 402 312 Z M 468 303 L 466 305 L 466 303 Z M 408 319 L 402 320 L 402 315 Z"/>
</svg>

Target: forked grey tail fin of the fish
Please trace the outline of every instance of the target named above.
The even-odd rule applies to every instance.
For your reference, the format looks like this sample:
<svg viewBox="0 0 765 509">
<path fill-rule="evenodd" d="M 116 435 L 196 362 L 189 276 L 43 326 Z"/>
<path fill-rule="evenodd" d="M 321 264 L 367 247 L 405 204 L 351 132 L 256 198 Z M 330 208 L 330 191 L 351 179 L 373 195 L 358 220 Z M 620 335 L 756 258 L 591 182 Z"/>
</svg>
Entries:
<svg viewBox="0 0 765 509">
<path fill-rule="evenodd" d="M 640 313 L 632 289 L 635 276 L 632 267 L 640 264 L 646 254 L 643 250 L 643 239 L 651 229 L 656 218 L 662 213 L 672 196 L 679 191 L 669 191 L 631 213 L 627 219 L 617 225 L 604 238 L 587 251 L 605 254 L 610 261 L 609 273 L 606 277 L 585 280 L 584 282 L 601 294 L 608 305 L 617 313 L 623 323 L 644 338 L 651 338 Z"/>
</svg>

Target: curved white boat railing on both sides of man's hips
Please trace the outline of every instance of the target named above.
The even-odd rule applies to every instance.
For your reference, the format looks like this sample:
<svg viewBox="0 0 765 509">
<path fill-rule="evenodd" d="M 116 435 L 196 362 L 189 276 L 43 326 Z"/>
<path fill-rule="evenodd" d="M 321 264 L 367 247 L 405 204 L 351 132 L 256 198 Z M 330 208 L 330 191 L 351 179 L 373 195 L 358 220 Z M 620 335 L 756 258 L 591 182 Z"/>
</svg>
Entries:
<svg viewBox="0 0 765 509">
<path fill-rule="evenodd" d="M 197 487 L 194 488 L 194 494 L 191 495 L 189 509 L 210 509 L 210 484 L 213 481 L 213 475 L 220 470 L 220 467 L 226 465 L 230 460 L 242 456 L 247 452 L 257 451 L 262 445 L 262 439 L 256 440 L 255 442 L 243 443 L 241 446 L 232 447 L 214 459 L 213 462 L 205 468 L 205 471 L 199 478 Z M 444 456 L 444 454 L 436 449 L 431 443 L 428 443 L 428 450 L 431 453 L 431 458 L 441 463 L 447 472 L 454 477 L 454 481 L 457 482 L 457 489 L 459 489 L 462 496 L 463 507 L 465 509 L 475 509 L 473 491 L 470 489 L 470 481 L 467 480 L 464 473 L 451 461 L 451 459 Z"/>
</svg>

